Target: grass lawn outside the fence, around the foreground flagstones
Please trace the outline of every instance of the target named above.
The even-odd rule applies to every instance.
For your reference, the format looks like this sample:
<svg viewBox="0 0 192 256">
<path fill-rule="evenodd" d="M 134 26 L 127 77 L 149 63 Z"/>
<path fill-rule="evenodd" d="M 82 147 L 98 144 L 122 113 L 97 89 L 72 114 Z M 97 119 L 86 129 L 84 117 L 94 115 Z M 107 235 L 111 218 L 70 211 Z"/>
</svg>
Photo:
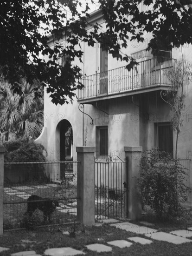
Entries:
<svg viewBox="0 0 192 256">
<path fill-rule="evenodd" d="M 162 224 L 163 226 L 163 224 Z M 173 225 L 174 227 L 174 225 Z M 166 229 L 166 224 L 164 224 Z M 170 227 L 171 228 L 171 224 Z M 96 253 L 85 248 L 85 245 L 91 243 L 102 243 L 108 245 L 107 242 L 113 240 L 127 240 L 128 237 L 135 236 L 134 233 L 127 232 L 125 230 L 116 229 L 109 225 L 103 225 L 102 227 L 85 227 L 76 224 L 76 237 L 71 237 L 62 234 L 63 231 L 72 231 L 72 226 L 59 226 L 51 228 L 43 228 L 35 231 L 12 231 L 5 232 L 0 236 L 0 246 L 10 248 L 9 251 L 0 253 L 0 256 L 9 256 L 10 253 L 19 252 L 24 250 L 35 250 L 37 254 L 43 254 L 45 249 L 55 247 L 72 247 L 74 249 L 80 249 L 87 252 L 89 256 L 191 256 L 192 255 L 192 243 L 183 243 L 175 245 L 173 243 L 153 241 L 151 244 L 141 245 L 139 243 L 133 243 L 129 248 L 120 249 L 113 247 L 112 252 L 108 253 Z M 144 235 L 136 235 L 143 238 L 147 238 Z M 22 241 L 29 240 L 32 242 Z M 128 240 L 127 240 L 128 241 Z M 129 241 L 131 242 L 131 241 Z"/>
</svg>

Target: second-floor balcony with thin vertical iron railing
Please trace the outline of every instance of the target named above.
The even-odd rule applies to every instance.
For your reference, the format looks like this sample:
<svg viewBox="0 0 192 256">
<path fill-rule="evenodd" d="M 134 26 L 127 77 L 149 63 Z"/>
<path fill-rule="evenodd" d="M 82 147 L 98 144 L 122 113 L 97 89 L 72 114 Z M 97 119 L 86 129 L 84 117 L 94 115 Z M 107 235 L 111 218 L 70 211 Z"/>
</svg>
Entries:
<svg viewBox="0 0 192 256">
<path fill-rule="evenodd" d="M 92 103 L 114 97 L 133 95 L 154 90 L 167 89 L 171 86 L 167 71 L 175 60 L 155 57 L 138 62 L 128 71 L 126 66 L 106 72 L 84 76 L 84 88 L 79 90 L 79 103 Z"/>
</svg>

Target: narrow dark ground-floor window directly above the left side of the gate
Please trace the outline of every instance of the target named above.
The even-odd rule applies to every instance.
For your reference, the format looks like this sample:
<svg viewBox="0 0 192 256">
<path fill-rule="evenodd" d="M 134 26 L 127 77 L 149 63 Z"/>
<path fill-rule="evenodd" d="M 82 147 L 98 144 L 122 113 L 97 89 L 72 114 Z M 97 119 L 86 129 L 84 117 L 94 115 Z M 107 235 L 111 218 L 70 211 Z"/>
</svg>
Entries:
<svg viewBox="0 0 192 256">
<path fill-rule="evenodd" d="M 96 128 L 96 156 L 108 155 L 108 127 Z"/>
</svg>

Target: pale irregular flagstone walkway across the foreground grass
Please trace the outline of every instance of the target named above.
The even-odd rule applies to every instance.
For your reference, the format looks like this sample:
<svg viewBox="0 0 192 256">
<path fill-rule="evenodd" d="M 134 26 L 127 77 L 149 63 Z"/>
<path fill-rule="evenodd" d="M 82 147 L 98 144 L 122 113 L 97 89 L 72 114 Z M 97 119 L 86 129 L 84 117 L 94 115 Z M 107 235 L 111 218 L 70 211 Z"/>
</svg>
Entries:
<svg viewBox="0 0 192 256">
<path fill-rule="evenodd" d="M 114 220 L 103 220 L 102 222 L 114 222 Z M 143 222 L 141 225 L 144 224 Z M 189 227 L 188 230 L 175 230 L 170 233 L 158 232 L 158 230 L 153 229 L 153 224 L 145 222 L 147 226 L 140 226 L 133 224 L 131 222 L 118 222 L 112 223 L 110 226 L 115 227 L 117 229 L 123 229 L 135 234 L 133 237 L 127 237 L 127 240 L 115 240 L 107 242 L 108 245 L 101 243 L 94 243 L 86 245 L 85 247 L 88 250 L 96 251 L 96 252 L 110 252 L 113 251 L 113 246 L 118 247 L 119 249 L 125 247 L 134 246 L 135 243 L 146 244 L 149 245 L 153 243 L 153 240 L 166 241 L 173 244 L 181 244 L 181 243 L 192 243 L 191 239 L 186 237 L 192 236 L 192 228 Z M 139 237 L 138 235 L 145 235 L 146 238 Z M 3 250 L 8 250 L 9 248 L 0 247 L 0 252 Z M 88 253 L 83 252 L 83 250 L 76 250 L 71 247 L 63 247 L 63 248 L 50 248 L 46 249 L 44 255 L 50 256 L 73 256 L 73 255 L 89 255 Z M 11 254 L 11 256 L 39 256 L 35 251 L 21 251 L 17 253 Z"/>
</svg>

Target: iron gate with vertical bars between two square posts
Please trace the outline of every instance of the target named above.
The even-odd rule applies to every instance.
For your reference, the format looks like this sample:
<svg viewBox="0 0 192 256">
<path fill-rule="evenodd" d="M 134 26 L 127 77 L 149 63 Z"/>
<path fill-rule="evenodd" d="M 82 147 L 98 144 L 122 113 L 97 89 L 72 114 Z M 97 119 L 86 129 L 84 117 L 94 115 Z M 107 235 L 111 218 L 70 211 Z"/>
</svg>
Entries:
<svg viewBox="0 0 192 256">
<path fill-rule="evenodd" d="M 128 214 L 128 158 L 95 159 L 96 219 L 124 218 Z"/>
</svg>

